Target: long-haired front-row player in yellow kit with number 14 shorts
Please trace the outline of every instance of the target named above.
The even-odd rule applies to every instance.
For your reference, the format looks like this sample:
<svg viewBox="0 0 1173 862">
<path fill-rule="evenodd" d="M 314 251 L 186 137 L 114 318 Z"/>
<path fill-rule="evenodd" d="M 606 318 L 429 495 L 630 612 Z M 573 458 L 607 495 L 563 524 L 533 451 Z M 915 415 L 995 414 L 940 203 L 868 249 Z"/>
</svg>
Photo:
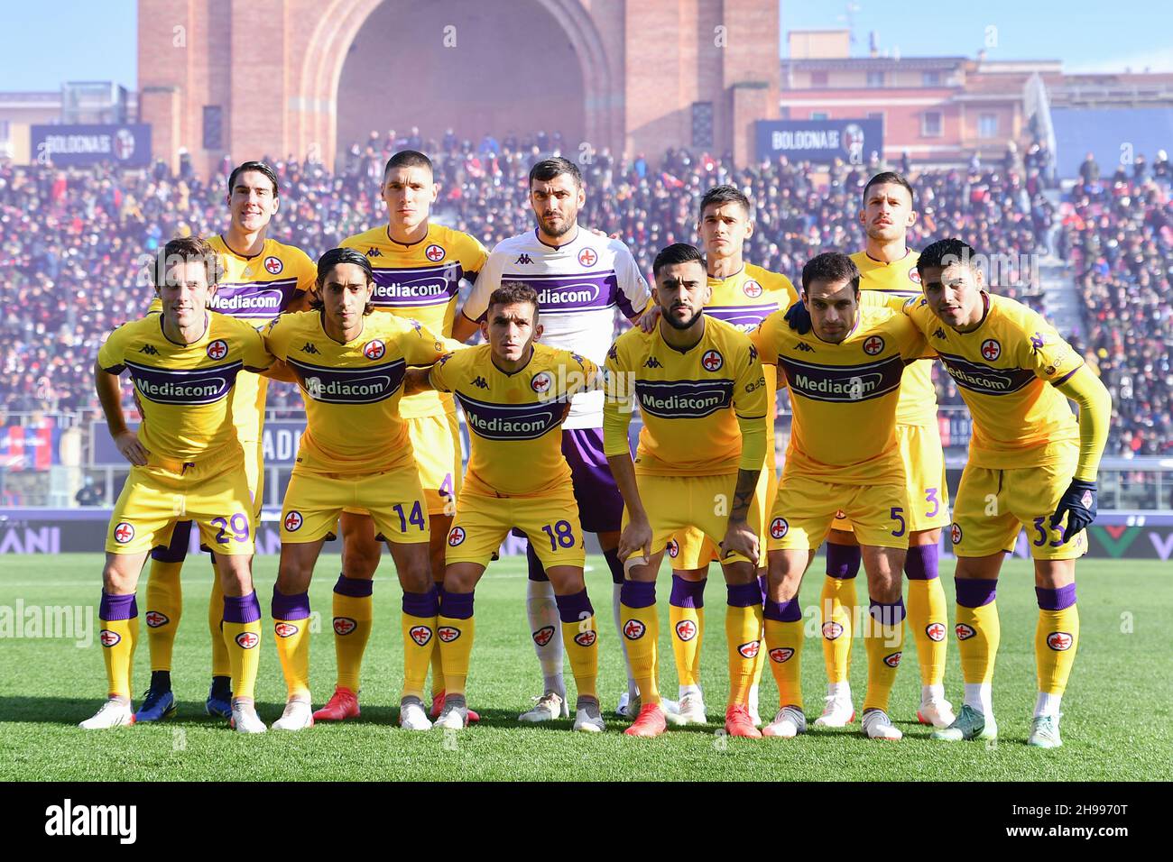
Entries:
<svg viewBox="0 0 1173 862">
<path fill-rule="evenodd" d="M 439 593 L 428 564 L 427 503 L 407 423 L 399 415 L 408 366 L 432 365 L 445 345 L 412 320 L 368 317 L 374 274 L 366 256 L 333 249 L 318 262 L 312 311 L 282 314 L 265 330 L 305 400 L 306 429 L 282 508 L 282 559 L 273 586 L 273 632 L 287 701 L 274 729 L 313 725 L 310 706 L 310 578 L 343 509 L 369 511 L 404 588 L 404 688 L 399 724 L 426 731 L 423 684 L 432 659 Z M 345 637 L 353 619 L 334 618 Z"/>
</svg>

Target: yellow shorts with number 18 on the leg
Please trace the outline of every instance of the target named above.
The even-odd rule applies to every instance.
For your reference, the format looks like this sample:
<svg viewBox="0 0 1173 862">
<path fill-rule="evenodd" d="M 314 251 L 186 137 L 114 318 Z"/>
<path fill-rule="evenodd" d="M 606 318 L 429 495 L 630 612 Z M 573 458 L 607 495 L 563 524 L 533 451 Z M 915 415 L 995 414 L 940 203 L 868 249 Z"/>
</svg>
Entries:
<svg viewBox="0 0 1173 862">
<path fill-rule="evenodd" d="M 567 484 L 564 493 L 541 497 L 489 497 L 466 491 L 456 503 L 445 563 L 488 565 L 514 528 L 526 534 L 545 569 L 581 569 L 586 562 L 578 503 Z"/>
</svg>

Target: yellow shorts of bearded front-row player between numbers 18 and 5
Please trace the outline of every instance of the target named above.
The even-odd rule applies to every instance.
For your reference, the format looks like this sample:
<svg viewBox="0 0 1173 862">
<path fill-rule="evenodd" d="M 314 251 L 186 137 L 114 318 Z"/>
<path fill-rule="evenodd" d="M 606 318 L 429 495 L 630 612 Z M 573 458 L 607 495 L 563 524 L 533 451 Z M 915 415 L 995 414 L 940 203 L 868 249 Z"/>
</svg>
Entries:
<svg viewBox="0 0 1173 862">
<path fill-rule="evenodd" d="M 737 488 L 735 473 L 724 476 L 647 476 L 637 473 L 636 486 L 652 525 L 652 554 L 659 554 L 666 548 L 671 557 L 676 536 L 689 529 L 696 530 L 713 548 L 725 541 L 733 490 Z M 624 528 L 629 521 L 628 509 L 624 507 Z M 697 544 L 698 552 L 703 544 L 704 542 Z M 679 559 L 679 554 L 677 558 Z M 750 561 L 740 554 L 731 554 L 720 562 L 728 564 Z"/>
</svg>

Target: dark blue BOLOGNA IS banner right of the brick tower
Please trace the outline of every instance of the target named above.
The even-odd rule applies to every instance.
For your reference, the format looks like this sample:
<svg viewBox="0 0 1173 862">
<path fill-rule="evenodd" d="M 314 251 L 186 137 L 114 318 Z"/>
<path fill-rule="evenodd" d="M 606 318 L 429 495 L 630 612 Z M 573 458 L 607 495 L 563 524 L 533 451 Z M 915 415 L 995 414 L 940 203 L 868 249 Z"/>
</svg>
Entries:
<svg viewBox="0 0 1173 862">
<path fill-rule="evenodd" d="M 880 120 L 759 120 L 758 158 L 829 164 L 841 158 L 863 164 L 873 152 L 883 155 Z"/>
</svg>

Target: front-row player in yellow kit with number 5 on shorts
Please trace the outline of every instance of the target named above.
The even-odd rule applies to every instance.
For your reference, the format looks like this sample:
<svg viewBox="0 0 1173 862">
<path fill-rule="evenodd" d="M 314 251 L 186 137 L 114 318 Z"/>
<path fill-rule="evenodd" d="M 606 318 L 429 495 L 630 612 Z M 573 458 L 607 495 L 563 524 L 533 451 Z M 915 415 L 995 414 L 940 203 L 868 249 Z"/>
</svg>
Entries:
<svg viewBox="0 0 1173 862">
<path fill-rule="evenodd" d="M 904 365 L 930 355 L 903 314 L 860 305 L 860 272 L 846 254 L 823 252 L 802 267 L 802 301 L 812 328 L 794 332 L 782 313 L 753 334 L 761 361 L 777 364 L 794 419 L 786 466 L 769 515 L 766 646 L 779 711 L 769 737 L 806 731 L 800 687 L 802 575 L 836 511 L 850 517 L 868 578 L 863 642 L 868 690 L 862 729 L 870 739 L 903 734 L 888 718 L 904 637 L 901 568 L 908 548 L 904 468 L 896 406 Z"/>
</svg>

